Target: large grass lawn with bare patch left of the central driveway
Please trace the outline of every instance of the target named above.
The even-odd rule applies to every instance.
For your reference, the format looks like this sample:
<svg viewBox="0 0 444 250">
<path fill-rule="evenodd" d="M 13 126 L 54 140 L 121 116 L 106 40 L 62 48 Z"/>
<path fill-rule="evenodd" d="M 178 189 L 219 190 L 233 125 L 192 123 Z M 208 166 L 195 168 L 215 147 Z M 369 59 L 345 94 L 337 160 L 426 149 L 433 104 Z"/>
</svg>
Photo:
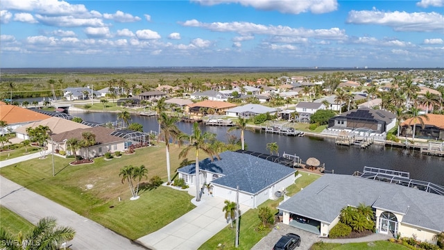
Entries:
<svg viewBox="0 0 444 250">
<path fill-rule="evenodd" d="M 181 161 L 178 160 L 179 152 L 178 147 L 171 147 L 172 175 Z M 192 151 L 189 156 L 193 158 Z M 96 158 L 91 165 L 71 166 L 72 159 L 58 156 L 54 160 L 55 177 L 52 176 L 51 157 L 3 167 L 0 174 L 130 239 L 157 231 L 194 208 L 187 192 L 162 186 L 153 190 L 142 188 L 140 199 L 129 200 L 128 183 L 122 184 L 119 177 L 121 167 L 143 164 L 148 169 L 148 180 L 142 182 L 148 182 L 155 175 L 166 180 L 163 144 L 137 149 L 134 155 L 110 161 Z"/>
</svg>

